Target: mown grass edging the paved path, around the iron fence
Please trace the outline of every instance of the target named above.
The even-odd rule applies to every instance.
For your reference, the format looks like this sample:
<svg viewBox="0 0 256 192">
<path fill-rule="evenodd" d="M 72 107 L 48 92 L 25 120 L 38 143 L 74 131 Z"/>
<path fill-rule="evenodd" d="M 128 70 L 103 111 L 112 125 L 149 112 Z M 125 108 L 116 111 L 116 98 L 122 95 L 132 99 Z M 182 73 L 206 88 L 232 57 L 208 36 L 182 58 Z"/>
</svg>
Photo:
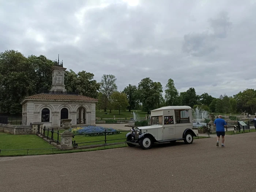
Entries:
<svg viewBox="0 0 256 192">
<path fill-rule="evenodd" d="M 60 130 L 60 133 L 63 133 L 64 130 Z M 122 132 L 122 131 L 121 131 Z M 107 135 L 107 140 L 112 139 L 120 139 L 107 141 L 106 143 L 116 143 L 116 142 L 124 142 L 126 141 L 125 134 L 128 132 L 122 132 L 117 135 Z M 55 136 L 56 133 L 54 133 Z M 56 134 L 57 135 L 57 134 Z M 50 134 L 49 134 L 50 136 Z M 208 138 L 204 136 L 194 137 L 194 139 Z M 84 137 L 81 135 L 76 135 L 73 141 L 76 140 L 76 143 L 79 142 L 90 142 L 90 141 L 102 141 L 102 142 L 93 142 L 93 143 L 83 143 L 79 144 L 79 146 L 85 145 L 97 145 L 105 143 L 103 140 L 105 136 L 97 136 L 97 137 Z M 22 155 L 44 155 L 44 154 L 60 154 L 60 153 L 76 153 L 83 151 L 95 151 L 95 150 L 103 150 L 103 149 L 113 149 L 119 147 L 126 147 L 126 143 L 110 145 L 110 146 L 102 146 L 95 147 L 91 149 L 75 149 L 75 150 L 60 150 L 54 148 L 48 142 L 39 138 L 37 135 L 12 135 L 8 133 L 0 133 L 0 156 L 22 156 Z M 5 149 L 23 149 L 23 150 L 10 150 L 5 151 Z M 29 150 L 28 150 L 29 149 Z"/>
</svg>

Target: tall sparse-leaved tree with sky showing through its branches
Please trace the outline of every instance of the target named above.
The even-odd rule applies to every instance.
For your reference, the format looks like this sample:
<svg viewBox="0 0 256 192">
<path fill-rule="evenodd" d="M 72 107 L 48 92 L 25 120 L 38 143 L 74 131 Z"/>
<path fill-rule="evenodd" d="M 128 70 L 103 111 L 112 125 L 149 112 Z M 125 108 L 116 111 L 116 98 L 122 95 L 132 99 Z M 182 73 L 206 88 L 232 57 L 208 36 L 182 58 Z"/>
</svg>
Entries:
<svg viewBox="0 0 256 192">
<path fill-rule="evenodd" d="M 101 92 L 104 96 L 104 111 L 107 111 L 108 102 L 110 101 L 110 96 L 114 91 L 117 91 L 116 77 L 111 74 L 103 74 L 101 77 Z M 111 113 L 111 108 L 109 113 Z"/>
</svg>

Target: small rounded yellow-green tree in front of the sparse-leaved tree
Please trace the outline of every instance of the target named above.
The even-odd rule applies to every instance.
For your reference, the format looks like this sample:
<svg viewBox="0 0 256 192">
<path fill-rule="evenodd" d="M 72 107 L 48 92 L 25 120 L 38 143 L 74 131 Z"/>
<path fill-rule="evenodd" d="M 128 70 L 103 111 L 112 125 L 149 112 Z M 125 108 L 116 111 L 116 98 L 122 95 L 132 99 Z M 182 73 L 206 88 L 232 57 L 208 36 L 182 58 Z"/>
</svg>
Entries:
<svg viewBox="0 0 256 192">
<path fill-rule="evenodd" d="M 113 107 L 115 110 L 119 111 L 119 115 L 121 110 L 126 111 L 126 108 L 128 107 L 129 103 L 127 100 L 127 95 L 125 93 L 115 91 L 112 93 L 111 99 Z"/>
</svg>

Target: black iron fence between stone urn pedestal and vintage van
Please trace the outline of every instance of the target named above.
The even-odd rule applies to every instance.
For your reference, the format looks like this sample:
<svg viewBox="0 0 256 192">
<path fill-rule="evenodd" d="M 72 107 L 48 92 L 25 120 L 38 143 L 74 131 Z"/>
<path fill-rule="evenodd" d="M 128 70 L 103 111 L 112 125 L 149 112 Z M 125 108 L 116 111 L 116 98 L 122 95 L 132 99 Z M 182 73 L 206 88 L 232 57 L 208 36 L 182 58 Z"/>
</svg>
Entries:
<svg viewBox="0 0 256 192">
<path fill-rule="evenodd" d="M 85 144 L 85 143 L 96 143 L 96 142 L 105 142 L 105 144 L 107 143 L 107 141 L 118 141 L 118 140 L 124 140 L 126 139 L 125 137 L 124 138 L 120 138 L 120 139 L 107 139 L 107 135 L 111 135 L 113 133 L 120 133 L 120 132 L 129 132 L 129 131 L 107 131 L 105 130 L 104 132 L 99 132 L 99 133 L 86 133 L 86 134 L 74 134 L 72 135 L 72 138 L 75 138 L 76 135 L 97 135 L 97 134 L 100 134 L 100 135 L 104 135 L 105 136 L 105 139 L 104 140 L 99 140 L 99 141 L 88 141 L 88 142 L 79 142 L 77 143 L 76 140 L 72 141 L 72 145 L 73 147 L 76 147 L 78 146 L 79 144 Z"/>
</svg>

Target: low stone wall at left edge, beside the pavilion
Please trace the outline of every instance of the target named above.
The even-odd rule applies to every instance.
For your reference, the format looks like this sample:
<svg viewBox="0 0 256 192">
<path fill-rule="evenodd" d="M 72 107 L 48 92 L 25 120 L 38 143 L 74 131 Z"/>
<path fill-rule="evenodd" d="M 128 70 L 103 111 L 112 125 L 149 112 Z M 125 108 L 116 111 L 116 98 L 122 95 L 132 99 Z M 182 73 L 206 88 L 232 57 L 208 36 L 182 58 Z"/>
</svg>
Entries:
<svg viewBox="0 0 256 192">
<path fill-rule="evenodd" d="M 15 125 L 0 125 L 0 131 L 13 135 L 29 135 L 33 133 L 31 125 L 15 126 Z"/>
</svg>

